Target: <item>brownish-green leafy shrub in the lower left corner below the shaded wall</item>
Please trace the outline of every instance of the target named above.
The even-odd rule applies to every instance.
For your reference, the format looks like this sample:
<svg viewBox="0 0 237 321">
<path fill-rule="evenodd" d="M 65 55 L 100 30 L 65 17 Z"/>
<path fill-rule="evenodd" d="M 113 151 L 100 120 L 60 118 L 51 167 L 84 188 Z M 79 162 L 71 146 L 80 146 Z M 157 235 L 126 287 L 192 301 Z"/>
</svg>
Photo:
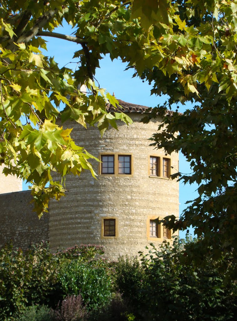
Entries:
<svg viewBox="0 0 237 321">
<path fill-rule="evenodd" d="M 48 243 L 25 254 L 11 243 L 0 249 L 0 320 L 16 317 L 26 305 L 46 303 L 56 282 L 56 260 Z"/>
</svg>

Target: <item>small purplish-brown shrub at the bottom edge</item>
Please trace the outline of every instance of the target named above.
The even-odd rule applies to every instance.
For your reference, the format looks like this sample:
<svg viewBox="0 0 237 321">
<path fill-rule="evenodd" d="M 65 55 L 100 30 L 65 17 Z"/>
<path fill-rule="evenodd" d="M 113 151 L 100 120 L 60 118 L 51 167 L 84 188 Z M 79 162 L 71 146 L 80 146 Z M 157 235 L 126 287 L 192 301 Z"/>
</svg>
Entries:
<svg viewBox="0 0 237 321">
<path fill-rule="evenodd" d="M 81 295 L 67 296 L 54 312 L 54 321 L 84 321 L 88 318 Z"/>
</svg>

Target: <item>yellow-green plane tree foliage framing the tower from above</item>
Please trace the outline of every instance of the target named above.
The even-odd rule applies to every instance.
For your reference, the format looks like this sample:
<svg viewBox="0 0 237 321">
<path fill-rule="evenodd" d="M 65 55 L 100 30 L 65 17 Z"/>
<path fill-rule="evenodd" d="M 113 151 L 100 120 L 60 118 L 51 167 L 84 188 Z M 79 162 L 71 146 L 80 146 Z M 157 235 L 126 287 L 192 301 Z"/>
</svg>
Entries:
<svg viewBox="0 0 237 321">
<path fill-rule="evenodd" d="M 193 172 L 172 178 L 197 182 L 199 197 L 179 220 L 168 217 L 169 227 L 193 225 L 195 246 L 210 248 L 206 255 L 236 252 L 236 13 L 236 0 L 1 1 L 1 162 L 5 174 L 33 184 L 39 216 L 51 197 L 63 195 L 68 173 L 89 169 L 95 175 L 93 156 L 76 146 L 71 129 L 58 126 L 56 118 L 96 125 L 101 134 L 109 125 L 116 128 L 117 119 L 131 122 L 123 113 L 108 112 L 108 100 L 117 101 L 94 78 L 100 59 L 109 54 L 152 84 L 152 94 L 169 95 L 144 122 L 177 104 L 151 143 L 186 156 Z M 74 28 L 73 35 L 56 32 L 63 22 Z M 42 53 L 46 37 L 77 44 L 75 71 L 59 68 Z M 78 90 L 81 84 L 87 95 Z M 179 104 L 188 101 L 193 107 L 178 113 Z M 52 179 L 51 170 L 61 182 Z"/>
</svg>

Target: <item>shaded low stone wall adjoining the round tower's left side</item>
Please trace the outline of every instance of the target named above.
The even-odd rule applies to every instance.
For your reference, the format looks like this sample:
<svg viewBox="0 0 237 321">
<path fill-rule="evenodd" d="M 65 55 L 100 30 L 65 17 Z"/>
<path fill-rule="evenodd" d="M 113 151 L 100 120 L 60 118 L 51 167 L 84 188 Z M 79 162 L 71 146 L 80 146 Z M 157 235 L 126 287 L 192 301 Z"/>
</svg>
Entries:
<svg viewBox="0 0 237 321">
<path fill-rule="evenodd" d="M 31 243 L 49 240 L 49 215 L 39 220 L 30 200 L 30 191 L 0 195 L 0 246 L 12 239 L 15 248 L 26 250 Z"/>
</svg>

